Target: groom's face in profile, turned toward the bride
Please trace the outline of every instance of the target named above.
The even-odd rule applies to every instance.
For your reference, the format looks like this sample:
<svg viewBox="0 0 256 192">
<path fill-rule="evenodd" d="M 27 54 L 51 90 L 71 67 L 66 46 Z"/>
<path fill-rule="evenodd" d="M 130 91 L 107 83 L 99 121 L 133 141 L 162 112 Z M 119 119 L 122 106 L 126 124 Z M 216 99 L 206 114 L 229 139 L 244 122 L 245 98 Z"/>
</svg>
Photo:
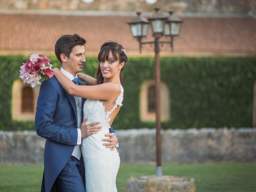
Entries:
<svg viewBox="0 0 256 192">
<path fill-rule="evenodd" d="M 72 75 L 76 75 L 78 72 L 82 71 L 84 62 L 86 62 L 84 45 L 74 46 L 69 58 L 66 58 L 66 63 L 64 63 L 64 70 L 70 72 Z"/>
</svg>

